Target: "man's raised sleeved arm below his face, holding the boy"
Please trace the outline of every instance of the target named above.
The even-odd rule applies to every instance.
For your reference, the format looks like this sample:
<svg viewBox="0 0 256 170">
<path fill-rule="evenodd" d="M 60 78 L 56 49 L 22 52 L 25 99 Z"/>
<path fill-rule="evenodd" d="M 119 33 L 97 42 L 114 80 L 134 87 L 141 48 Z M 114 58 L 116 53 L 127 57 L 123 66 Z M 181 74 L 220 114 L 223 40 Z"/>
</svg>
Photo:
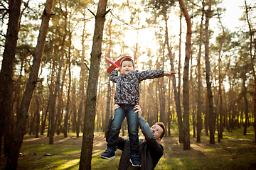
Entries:
<svg viewBox="0 0 256 170">
<path fill-rule="evenodd" d="M 139 126 L 142 129 L 142 133 L 146 138 L 148 145 L 151 146 L 151 149 L 154 149 L 154 152 L 156 152 L 157 154 L 163 155 L 164 154 L 163 147 L 159 144 L 159 142 L 157 142 L 154 133 L 149 127 L 149 123 L 147 123 L 143 117 L 139 117 Z"/>
</svg>

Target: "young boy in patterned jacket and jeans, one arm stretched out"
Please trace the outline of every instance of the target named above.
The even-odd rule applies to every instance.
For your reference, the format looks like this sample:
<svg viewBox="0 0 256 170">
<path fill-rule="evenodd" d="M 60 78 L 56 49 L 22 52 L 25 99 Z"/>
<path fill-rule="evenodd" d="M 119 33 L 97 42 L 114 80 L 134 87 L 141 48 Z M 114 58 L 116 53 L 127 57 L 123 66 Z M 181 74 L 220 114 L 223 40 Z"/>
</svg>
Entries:
<svg viewBox="0 0 256 170">
<path fill-rule="evenodd" d="M 143 71 L 134 70 L 134 62 L 130 57 L 125 57 L 121 63 L 121 67 L 114 69 L 110 74 L 110 80 L 116 83 L 116 91 L 114 94 L 114 104 L 118 104 L 119 108 L 114 111 L 114 119 L 112 122 L 107 149 L 101 155 L 103 159 L 114 159 L 114 152 L 117 150 L 117 139 L 121 129 L 122 122 L 127 117 L 128 133 L 129 133 L 129 154 L 132 166 L 141 166 L 139 159 L 139 123 L 138 113 L 134 110 L 134 106 L 139 104 L 139 84 L 145 79 L 154 79 L 157 77 L 172 76 L 176 72 L 164 72 L 163 70 Z M 118 71 L 122 74 L 118 76 Z"/>
</svg>

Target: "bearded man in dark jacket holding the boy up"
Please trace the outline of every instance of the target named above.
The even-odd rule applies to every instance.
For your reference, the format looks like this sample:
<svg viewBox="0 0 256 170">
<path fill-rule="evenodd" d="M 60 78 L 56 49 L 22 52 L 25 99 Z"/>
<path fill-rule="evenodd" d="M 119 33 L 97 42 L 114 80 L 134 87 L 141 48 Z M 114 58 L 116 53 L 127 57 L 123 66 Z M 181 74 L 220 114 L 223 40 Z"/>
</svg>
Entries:
<svg viewBox="0 0 256 170">
<path fill-rule="evenodd" d="M 116 108 L 114 108 L 116 109 Z M 129 138 L 124 139 L 118 137 L 117 149 L 122 150 L 121 159 L 119 162 L 119 170 L 151 170 L 154 169 L 159 159 L 164 154 L 164 147 L 159 143 L 164 137 L 165 127 L 164 123 L 155 123 L 152 127 L 146 123 L 146 120 L 141 116 L 142 110 L 139 105 L 135 106 L 134 109 L 139 111 L 139 126 L 142 129 L 144 139 L 139 139 L 139 157 L 141 159 L 141 167 L 134 167 L 129 160 Z M 110 123 L 111 120 L 110 120 Z M 110 132 L 110 125 L 107 128 L 106 140 Z"/>
</svg>

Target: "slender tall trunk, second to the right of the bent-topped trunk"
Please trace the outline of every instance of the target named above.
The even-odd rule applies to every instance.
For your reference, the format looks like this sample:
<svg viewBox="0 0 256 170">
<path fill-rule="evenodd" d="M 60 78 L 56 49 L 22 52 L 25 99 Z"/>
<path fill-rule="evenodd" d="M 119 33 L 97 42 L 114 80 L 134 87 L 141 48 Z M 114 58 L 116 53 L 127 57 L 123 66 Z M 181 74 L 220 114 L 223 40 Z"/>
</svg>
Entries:
<svg viewBox="0 0 256 170">
<path fill-rule="evenodd" d="M 215 114 L 213 111 L 213 94 L 211 90 L 210 83 L 210 61 L 209 61 L 209 20 L 211 16 L 211 4 L 212 0 L 208 2 L 208 10 L 206 11 L 206 28 L 205 28 L 205 36 L 206 36 L 206 84 L 207 84 L 207 96 L 208 96 L 208 107 L 209 107 L 209 130 L 210 130 L 210 144 L 215 144 L 214 133 L 215 133 Z"/>
</svg>

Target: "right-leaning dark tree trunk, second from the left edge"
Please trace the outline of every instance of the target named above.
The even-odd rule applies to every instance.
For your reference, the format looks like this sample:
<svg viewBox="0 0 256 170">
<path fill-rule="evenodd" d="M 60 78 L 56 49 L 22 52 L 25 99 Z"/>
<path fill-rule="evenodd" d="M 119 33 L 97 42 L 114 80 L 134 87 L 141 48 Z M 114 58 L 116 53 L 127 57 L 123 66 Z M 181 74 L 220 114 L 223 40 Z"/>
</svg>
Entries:
<svg viewBox="0 0 256 170">
<path fill-rule="evenodd" d="M 36 88 L 36 82 L 38 81 L 38 71 L 41 64 L 41 58 L 43 55 L 43 47 L 46 42 L 46 34 L 48 31 L 50 13 L 53 8 L 53 0 L 47 0 L 45 9 L 43 11 L 42 23 L 38 35 L 38 43 L 36 45 L 35 55 L 33 57 L 33 65 L 31 67 L 31 73 L 28 78 L 26 90 L 23 94 L 21 101 L 21 107 L 18 113 L 18 121 L 16 124 L 16 130 L 11 142 L 10 154 L 6 162 L 5 169 L 17 169 L 18 154 L 21 148 L 23 136 L 26 133 L 26 118 L 28 118 L 28 108 L 31 103 L 33 91 Z"/>
</svg>

